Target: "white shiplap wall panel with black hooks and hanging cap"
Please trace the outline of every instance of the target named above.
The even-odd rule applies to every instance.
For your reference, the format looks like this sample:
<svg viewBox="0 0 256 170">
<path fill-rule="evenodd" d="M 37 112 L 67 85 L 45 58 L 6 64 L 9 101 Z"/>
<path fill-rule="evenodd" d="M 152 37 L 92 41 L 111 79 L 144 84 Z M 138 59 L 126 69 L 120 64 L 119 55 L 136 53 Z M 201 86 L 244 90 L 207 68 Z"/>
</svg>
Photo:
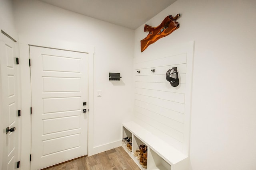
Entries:
<svg viewBox="0 0 256 170">
<path fill-rule="evenodd" d="M 137 123 L 184 154 L 189 147 L 193 47 L 192 42 L 169 54 L 137 59 L 134 70 Z M 172 67 L 178 70 L 177 87 L 166 80 Z"/>
</svg>

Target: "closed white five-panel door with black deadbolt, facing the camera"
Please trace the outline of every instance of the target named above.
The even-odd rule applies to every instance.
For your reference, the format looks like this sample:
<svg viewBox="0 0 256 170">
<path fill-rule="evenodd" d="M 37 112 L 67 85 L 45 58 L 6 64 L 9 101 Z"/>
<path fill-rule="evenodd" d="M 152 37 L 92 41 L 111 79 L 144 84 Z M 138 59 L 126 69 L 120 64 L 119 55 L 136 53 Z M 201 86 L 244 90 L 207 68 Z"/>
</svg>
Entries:
<svg viewBox="0 0 256 170">
<path fill-rule="evenodd" d="M 31 170 L 87 154 L 88 53 L 30 46 Z"/>
</svg>

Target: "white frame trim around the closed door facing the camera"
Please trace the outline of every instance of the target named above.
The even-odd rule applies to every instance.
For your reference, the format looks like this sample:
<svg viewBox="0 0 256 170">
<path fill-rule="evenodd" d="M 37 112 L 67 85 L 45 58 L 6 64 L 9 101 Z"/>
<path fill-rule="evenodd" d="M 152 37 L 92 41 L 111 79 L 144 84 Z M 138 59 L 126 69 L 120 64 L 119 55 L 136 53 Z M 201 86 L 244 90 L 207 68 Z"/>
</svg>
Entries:
<svg viewBox="0 0 256 170">
<path fill-rule="evenodd" d="M 54 49 L 64 49 L 77 52 L 88 53 L 88 155 L 93 153 L 93 113 L 94 113 L 94 47 L 90 45 L 58 41 L 54 39 L 40 39 L 19 37 L 20 40 L 20 70 L 21 70 L 21 170 L 30 169 L 29 156 L 31 153 L 31 84 L 30 84 L 30 67 L 28 59 L 30 56 L 29 45 L 48 47 Z M 33 159 L 33 156 L 32 156 Z"/>
</svg>

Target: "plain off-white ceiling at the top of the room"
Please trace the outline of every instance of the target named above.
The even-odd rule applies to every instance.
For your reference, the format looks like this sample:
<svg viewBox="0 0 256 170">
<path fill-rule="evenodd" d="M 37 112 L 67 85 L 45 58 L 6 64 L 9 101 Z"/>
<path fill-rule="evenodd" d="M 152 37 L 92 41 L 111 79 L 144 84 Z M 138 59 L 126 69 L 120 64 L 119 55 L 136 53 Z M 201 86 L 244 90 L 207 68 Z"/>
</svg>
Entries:
<svg viewBox="0 0 256 170">
<path fill-rule="evenodd" d="M 72 12 L 136 29 L 176 0 L 40 0 Z"/>
</svg>

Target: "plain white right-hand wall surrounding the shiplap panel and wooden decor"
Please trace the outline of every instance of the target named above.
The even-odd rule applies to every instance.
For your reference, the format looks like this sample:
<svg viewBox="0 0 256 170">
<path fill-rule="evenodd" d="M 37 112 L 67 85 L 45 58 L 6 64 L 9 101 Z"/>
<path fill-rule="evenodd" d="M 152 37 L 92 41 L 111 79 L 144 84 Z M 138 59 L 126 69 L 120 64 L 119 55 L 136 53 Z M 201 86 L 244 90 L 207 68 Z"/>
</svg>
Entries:
<svg viewBox="0 0 256 170">
<path fill-rule="evenodd" d="M 195 41 L 190 137 L 191 170 L 256 169 L 256 1 L 178 0 L 146 22 L 180 13 L 180 28 L 135 58 Z"/>
</svg>

